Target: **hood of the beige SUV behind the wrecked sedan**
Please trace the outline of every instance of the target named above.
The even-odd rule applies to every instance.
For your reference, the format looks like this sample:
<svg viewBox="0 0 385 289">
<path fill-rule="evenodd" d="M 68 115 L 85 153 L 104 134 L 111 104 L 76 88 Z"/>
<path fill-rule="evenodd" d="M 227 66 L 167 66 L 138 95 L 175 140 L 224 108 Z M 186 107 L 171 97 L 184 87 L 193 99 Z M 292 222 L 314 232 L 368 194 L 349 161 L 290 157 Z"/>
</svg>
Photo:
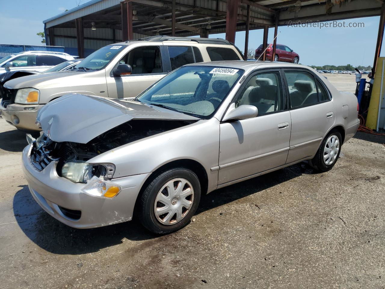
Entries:
<svg viewBox="0 0 385 289">
<path fill-rule="evenodd" d="M 78 71 L 58 71 L 58 72 L 48 72 L 34 75 L 27 75 L 10 81 L 5 82 L 5 86 L 11 89 L 19 89 L 24 87 L 33 87 L 39 88 L 46 85 L 52 85 L 56 83 L 64 83 L 70 81 L 70 79 L 65 80 L 64 78 L 71 78 L 72 76 L 79 77 L 81 74 L 86 72 Z"/>
</svg>

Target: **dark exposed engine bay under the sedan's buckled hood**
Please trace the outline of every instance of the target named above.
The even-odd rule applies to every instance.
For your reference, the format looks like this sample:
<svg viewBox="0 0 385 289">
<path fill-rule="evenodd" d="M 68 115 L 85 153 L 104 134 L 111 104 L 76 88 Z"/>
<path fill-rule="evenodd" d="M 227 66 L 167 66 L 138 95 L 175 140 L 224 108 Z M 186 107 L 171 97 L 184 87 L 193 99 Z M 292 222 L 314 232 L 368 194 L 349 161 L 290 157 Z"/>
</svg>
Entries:
<svg viewBox="0 0 385 289">
<path fill-rule="evenodd" d="M 56 170 L 61 176 L 62 168 L 69 161 L 88 161 L 94 156 L 138 139 L 147 138 L 195 121 L 134 119 L 102 133 L 88 143 L 55 142 L 42 134 L 34 143 L 31 161 L 35 168 L 43 170 L 51 161 L 58 161 Z M 97 169 L 97 168 L 96 168 Z M 102 168 L 100 168 L 102 170 Z M 99 175 L 103 175 L 103 171 Z M 98 172 L 95 172 L 98 175 Z"/>
</svg>

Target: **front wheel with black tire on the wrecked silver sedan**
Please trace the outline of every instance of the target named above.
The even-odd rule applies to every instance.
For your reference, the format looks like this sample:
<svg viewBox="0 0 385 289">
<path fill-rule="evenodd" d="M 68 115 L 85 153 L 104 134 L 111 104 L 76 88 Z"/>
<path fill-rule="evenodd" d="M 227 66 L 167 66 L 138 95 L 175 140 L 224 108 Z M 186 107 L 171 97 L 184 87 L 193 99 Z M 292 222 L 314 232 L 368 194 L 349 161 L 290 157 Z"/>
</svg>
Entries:
<svg viewBox="0 0 385 289">
<path fill-rule="evenodd" d="M 200 198 L 198 176 L 186 168 L 172 168 L 155 176 L 143 191 L 139 218 L 142 225 L 153 233 L 175 232 L 189 223 Z"/>
</svg>

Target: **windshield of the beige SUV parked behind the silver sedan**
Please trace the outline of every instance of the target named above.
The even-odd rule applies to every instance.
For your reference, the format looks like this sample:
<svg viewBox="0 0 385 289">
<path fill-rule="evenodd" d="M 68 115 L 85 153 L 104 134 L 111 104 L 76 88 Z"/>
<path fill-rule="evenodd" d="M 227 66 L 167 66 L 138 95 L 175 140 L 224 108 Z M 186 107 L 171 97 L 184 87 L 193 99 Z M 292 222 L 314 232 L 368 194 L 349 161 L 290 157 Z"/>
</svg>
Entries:
<svg viewBox="0 0 385 289">
<path fill-rule="evenodd" d="M 125 45 L 108 45 L 96 50 L 92 54 L 85 57 L 84 60 L 80 61 L 74 69 L 79 71 L 96 71 L 103 69 L 116 54 L 123 50 Z"/>
</svg>

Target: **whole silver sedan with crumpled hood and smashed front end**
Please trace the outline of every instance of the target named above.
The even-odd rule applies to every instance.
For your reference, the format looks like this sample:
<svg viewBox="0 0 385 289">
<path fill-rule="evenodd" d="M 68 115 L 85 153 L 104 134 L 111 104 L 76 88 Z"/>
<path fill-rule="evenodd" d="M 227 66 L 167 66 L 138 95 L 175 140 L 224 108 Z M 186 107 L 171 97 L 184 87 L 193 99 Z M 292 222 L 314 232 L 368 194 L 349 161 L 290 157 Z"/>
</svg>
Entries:
<svg viewBox="0 0 385 289">
<path fill-rule="evenodd" d="M 310 67 L 192 64 L 135 99 L 69 94 L 45 105 L 23 170 L 33 198 L 71 227 L 134 217 L 164 234 L 189 222 L 201 194 L 305 160 L 330 170 L 357 108 Z"/>
</svg>

